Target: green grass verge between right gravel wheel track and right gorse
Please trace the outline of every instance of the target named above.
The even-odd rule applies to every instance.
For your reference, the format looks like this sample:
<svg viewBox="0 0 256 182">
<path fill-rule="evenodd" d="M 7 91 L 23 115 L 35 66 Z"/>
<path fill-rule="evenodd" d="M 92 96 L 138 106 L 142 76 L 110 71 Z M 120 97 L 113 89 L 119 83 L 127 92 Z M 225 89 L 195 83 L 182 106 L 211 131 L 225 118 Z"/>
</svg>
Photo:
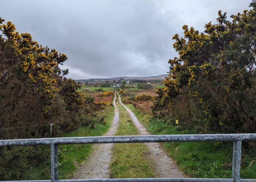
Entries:
<svg viewBox="0 0 256 182">
<path fill-rule="evenodd" d="M 179 126 L 143 114 L 132 104 L 127 106 L 154 135 L 195 134 Z M 175 142 L 161 143 L 178 167 L 190 177 L 231 178 L 233 143 L 231 142 Z M 245 149 L 244 149 L 245 150 Z M 241 178 L 256 178 L 256 154 L 242 151 Z M 251 164 L 251 165 L 250 165 Z"/>
</svg>

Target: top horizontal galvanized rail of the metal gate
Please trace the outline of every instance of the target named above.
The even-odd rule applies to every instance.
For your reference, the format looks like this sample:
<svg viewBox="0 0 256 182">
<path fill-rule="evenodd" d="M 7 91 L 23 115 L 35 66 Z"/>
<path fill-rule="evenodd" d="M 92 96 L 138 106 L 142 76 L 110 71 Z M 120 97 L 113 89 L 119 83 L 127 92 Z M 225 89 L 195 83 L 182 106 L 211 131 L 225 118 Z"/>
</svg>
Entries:
<svg viewBox="0 0 256 182">
<path fill-rule="evenodd" d="M 135 136 L 108 136 L 108 137 L 67 137 L 67 138 L 38 138 L 0 140 L 1 146 L 27 146 L 55 144 L 86 144 L 86 143 L 138 143 L 138 142 L 206 142 L 226 141 L 233 142 L 256 141 L 253 134 L 199 134 L 199 135 L 135 135 Z"/>
</svg>

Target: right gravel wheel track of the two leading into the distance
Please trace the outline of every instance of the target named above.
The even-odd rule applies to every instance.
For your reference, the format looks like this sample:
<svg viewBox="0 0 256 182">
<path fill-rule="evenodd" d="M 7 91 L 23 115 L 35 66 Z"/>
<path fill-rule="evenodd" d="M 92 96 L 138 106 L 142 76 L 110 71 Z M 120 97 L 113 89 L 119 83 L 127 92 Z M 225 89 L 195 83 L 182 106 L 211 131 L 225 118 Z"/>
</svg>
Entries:
<svg viewBox="0 0 256 182">
<path fill-rule="evenodd" d="M 133 114 L 133 112 L 125 106 L 121 97 L 118 94 L 118 100 L 120 104 L 127 110 L 132 122 L 135 124 L 136 128 L 139 130 L 141 135 L 151 135 L 150 132 L 139 122 L 138 118 Z M 145 145 L 150 149 L 151 156 L 150 159 L 155 162 L 157 176 L 161 178 L 184 178 L 185 175 L 178 169 L 174 161 L 166 154 L 159 143 L 145 143 Z"/>
</svg>

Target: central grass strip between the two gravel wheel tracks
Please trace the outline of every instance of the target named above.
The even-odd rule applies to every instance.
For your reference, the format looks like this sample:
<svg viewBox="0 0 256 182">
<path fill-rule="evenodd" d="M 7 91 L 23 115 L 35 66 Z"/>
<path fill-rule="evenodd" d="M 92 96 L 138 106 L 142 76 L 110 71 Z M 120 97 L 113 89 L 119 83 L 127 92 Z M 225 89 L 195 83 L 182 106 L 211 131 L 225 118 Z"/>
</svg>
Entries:
<svg viewBox="0 0 256 182">
<path fill-rule="evenodd" d="M 118 102 L 120 120 L 116 135 L 138 135 L 129 114 Z M 112 147 L 111 178 L 152 178 L 153 163 L 148 161 L 149 149 L 143 143 L 115 143 Z"/>
</svg>

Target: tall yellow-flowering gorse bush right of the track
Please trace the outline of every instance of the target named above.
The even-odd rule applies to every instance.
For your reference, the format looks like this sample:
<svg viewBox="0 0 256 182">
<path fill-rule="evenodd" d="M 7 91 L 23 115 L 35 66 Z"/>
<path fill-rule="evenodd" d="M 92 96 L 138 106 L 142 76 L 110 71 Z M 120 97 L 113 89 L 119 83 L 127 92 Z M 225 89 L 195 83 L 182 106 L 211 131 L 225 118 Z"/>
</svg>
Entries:
<svg viewBox="0 0 256 182">
<path fill-rule="evenodd" d="M 256 132 L 256 1 L 250 7 L 232 21 L 219 11 L 217 24 L 207 23 L 202 33 L 184 25 L 184 37 L 173 36 L 179 58 L 169 60 L 155 114 L 207 132 Z"/>
</svg>

